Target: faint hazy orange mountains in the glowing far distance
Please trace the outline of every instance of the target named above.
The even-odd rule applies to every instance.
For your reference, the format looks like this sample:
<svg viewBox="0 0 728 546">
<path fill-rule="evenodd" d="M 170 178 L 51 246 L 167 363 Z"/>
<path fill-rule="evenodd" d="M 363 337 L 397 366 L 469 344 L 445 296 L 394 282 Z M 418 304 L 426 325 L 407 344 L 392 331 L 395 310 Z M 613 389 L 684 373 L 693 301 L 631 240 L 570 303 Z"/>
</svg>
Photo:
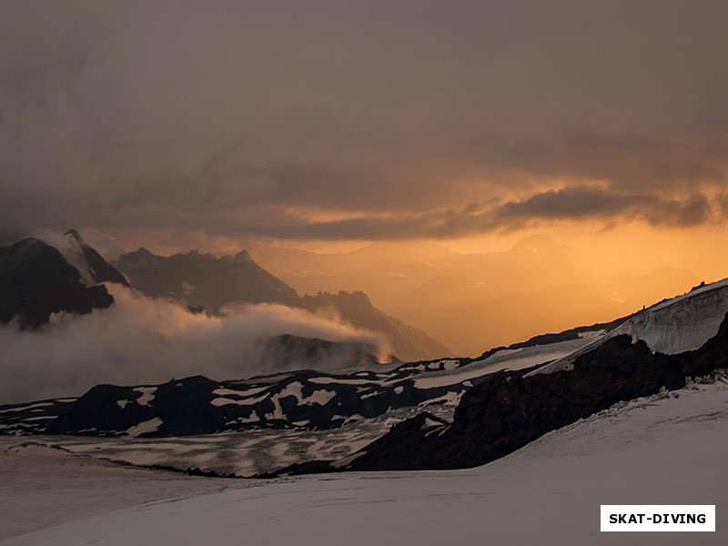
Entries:
<svg viewBox="0 0 728 546">
<path fill-rule="evenodd" d="M 299 292 L 361 290 L 374 306 L 427 331 L 451 354 L 469 356 L 547 328 L 625 316 L 702 280 L 677 268 L 636 274 L 627 259 L 614 260 L 613 270 L 594 268 L 587 251 L 545 236 L 470 253 L 420 242 L 378 242 L 338 254 L 265 245 L 249 250 Z"/>
</svg>

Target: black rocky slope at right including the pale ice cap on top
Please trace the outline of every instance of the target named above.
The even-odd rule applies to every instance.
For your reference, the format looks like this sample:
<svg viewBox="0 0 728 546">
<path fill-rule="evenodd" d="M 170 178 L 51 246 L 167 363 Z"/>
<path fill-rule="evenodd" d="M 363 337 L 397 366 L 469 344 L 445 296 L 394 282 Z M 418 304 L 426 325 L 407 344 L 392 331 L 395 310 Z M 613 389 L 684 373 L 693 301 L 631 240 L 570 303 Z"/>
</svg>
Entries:
<svg viewBox="0 0 728 546">
<path fill-rule="evenodd" d="M 726 366 L 728 279 L 636 313 L 566 356 L 494 373 L 462 396 L 452 423 L 420 414 L 329 470 L 481 465 L 613 404 L 682 389 Z"/>
</svg>

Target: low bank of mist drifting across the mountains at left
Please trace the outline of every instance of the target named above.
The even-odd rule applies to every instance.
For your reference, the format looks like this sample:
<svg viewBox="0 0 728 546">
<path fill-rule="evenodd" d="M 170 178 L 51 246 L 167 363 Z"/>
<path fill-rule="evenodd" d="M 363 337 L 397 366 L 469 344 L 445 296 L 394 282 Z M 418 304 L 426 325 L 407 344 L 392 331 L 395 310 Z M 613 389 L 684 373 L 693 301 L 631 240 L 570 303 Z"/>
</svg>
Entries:
<svg viewBox="0 0 728 546">
<path fill-rule="evenodd" d="M 0 328 L 0 403 L 79 396 L 100 383 L 158 383 L 196 374 L 243 379 L 309 365 L 294 358 L 281 369 L 267 359 L 265 340 L 282 334 L 361 343 L 387 354 L 379 335 L 299 309 L 245 306 L 207 317 L 127 288 L 107 288 L 116 299 L 111 308 L 56 316 L 35 332 Z M 349 356 L 346 348 L 332 352 L 320 368 L 341 368 Z"/>
</svg>

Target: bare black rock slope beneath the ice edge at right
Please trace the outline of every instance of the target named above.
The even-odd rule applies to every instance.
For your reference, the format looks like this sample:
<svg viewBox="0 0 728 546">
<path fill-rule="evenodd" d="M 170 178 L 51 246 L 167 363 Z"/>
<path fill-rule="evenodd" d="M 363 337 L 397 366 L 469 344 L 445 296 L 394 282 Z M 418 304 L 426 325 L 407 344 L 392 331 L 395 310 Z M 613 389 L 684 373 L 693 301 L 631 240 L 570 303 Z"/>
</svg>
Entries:
<svg viewBox="0 0 728 546">
<path fill-rule="evenodd" d="M 502 371 L 465 392 L 450 426 L 422 430 L 402 423 L 361 450 L 346 470 L 469 468 L 499 459 L 612 404 L 681 389 L 687 377 L 728 366 L 728 319 L 702 348 L 652 353 L 628 336 L 608 339 L 572 370 Z"/>
</svg>

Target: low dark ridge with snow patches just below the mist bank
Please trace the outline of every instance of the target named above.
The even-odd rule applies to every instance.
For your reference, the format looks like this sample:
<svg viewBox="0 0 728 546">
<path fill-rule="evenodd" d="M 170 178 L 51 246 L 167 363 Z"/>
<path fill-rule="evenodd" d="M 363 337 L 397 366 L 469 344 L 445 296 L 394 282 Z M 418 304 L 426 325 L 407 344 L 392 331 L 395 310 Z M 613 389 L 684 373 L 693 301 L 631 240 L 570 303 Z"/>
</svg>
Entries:
<svg viewBox="0 0 728 546">
<path fill-rule="evenodd" d="M 446 363 L 433 365 L 444 369 Z M 447 399 L 461 385 L 418 388 L 418 369 L 332 374 L 300 370 L 215 381 L 201 376 L 162 385 L 99 385 L 69 403 L 0 407 L 0 430 L 91 436 L 181 436 L 236 430 L 330 430 L 393 409 Z"/>
</svg>

